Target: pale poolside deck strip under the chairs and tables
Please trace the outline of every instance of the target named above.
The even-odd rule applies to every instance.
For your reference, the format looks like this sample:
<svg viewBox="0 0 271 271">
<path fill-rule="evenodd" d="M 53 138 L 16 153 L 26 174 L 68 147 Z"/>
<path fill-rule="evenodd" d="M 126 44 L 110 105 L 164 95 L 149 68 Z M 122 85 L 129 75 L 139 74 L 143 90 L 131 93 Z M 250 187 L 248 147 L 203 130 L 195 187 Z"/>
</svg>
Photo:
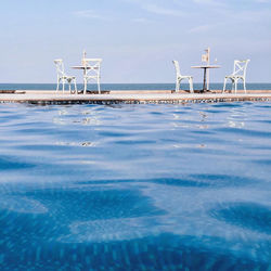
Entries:
<svg viewBox="0 0 271 271">
<path fill-rule="evenodd" d="M 119 90 L 103 91 L 101 94 L 88 93 L 69 94 L 55 93 L 52 90 L 14 90 L 0 91 L 0 103 L 31 103 L 31 104 L 116 104 L 116 103 L 215 103 L 235 101 L 271 101 L 271 90 L 250 90 L 247 93 L 221 93 L 214 90 L 207 93 L 189 93 L 185 91 L 176 93 L 170 90 Z"/>
</svg>

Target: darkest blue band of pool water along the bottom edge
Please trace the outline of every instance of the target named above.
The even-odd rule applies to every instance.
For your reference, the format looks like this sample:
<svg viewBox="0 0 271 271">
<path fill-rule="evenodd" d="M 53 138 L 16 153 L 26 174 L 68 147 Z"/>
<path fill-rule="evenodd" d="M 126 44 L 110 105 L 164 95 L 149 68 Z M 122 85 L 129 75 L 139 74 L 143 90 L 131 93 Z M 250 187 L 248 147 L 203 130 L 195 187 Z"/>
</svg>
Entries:
<svg viewBox="0 0 271 271">
<path fill-rule="evenodd" d="M 210 248 L 221 242 L 165 233 L 122 242 L 48 243 L 2 250 L 1 270 L 268 270 L 269 262 Z"/>
</svg>

